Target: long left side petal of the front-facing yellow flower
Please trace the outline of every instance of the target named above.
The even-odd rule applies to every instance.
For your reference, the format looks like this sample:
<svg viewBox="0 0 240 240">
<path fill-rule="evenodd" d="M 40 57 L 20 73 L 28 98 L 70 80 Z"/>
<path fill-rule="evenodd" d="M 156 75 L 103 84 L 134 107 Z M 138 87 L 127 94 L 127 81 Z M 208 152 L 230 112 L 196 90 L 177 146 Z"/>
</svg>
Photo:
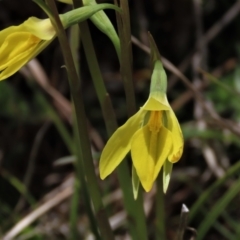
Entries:
<svg viewBox="0 0 240 240">
<path fill-rule="evenodd" d="M 131 139 L 140 128 L 145 111 L 140 109 L 128 121 L 119 127 L 108 140 L 100 158 L 100 177 L 107 177 L 130 151 Z"/>
</svg>

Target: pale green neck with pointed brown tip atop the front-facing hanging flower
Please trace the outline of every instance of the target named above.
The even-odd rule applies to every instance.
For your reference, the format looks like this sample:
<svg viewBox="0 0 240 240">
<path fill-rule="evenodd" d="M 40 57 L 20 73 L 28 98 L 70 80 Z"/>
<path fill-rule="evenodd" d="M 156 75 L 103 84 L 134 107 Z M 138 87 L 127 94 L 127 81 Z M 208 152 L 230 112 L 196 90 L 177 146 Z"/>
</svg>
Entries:
<svg viewBox="0 0 240 240">
<path fill-rule="evenodd" d="M 158 51 L 157 45 L 150 33 L 148 33 L 150 48 L 151 48 L 151 63 L 152 63 L 152 77 L 150 86 L 150 95 L 152 93 L 166 93 L 167 91 L 167 75 L 163 68 L 161 55 Z"/>
</svg>

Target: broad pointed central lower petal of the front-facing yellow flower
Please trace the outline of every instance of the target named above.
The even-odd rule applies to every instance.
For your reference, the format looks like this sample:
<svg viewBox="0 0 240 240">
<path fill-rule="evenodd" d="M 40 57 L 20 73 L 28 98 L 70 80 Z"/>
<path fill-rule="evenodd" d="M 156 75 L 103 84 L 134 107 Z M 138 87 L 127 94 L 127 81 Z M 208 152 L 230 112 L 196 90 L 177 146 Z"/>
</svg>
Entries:
<svg viewBox="0 0 240 240">
<path fill-rule="evenodd" d="M 134 134 L 132 161 L 146 192 L 151 190 L 171 147 L 171 133 L 164 127 L 156 133 L 149 131 L 149 126 L 146 125 Z"/>
</svg>

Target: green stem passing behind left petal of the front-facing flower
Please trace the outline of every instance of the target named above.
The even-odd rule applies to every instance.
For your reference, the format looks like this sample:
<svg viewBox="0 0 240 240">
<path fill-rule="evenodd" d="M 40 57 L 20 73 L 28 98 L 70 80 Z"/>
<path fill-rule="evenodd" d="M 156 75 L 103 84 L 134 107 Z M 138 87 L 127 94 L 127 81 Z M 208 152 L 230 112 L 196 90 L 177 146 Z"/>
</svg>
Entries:
<svg viewBox="0 0 240 240">
<path fill-rule="evenodd" d="M 94 51 L 92 38 L 86 22 L 80 24 L 81 32 L 83 32 L 82 42 L 88 62 L 89 70 L 93 79 L 93 84 L 97 92 L 97 97 L 101 105 L 103 117 L 105 120 L 108 135 L 117 129 L 117 120 L 112 107 L 111 100 L 106 91 L 104 81 L 101 75 L 101 71 L 97 62 L 96 54 Z M 131 188 L 130 172 L 127 165 L 127 161 L 123 161 L 117 168 L 118 178 L 121 189 L 124 195 L 124 205 L 128 212 L 129 228 L 134 240 L 146 240 L 147 230 L 145 223 L 145 215 L 143 211 L 142 197 L 139 194 L 137 201 L 133 199 L 133 193 Z"/>
</svg>

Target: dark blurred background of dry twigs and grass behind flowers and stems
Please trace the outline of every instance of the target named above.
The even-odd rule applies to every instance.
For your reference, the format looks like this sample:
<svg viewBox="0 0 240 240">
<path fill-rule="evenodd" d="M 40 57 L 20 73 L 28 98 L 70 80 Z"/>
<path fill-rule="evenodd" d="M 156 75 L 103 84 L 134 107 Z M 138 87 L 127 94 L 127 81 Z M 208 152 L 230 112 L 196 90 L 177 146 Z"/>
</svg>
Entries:
<svg viewBox="0 0 240 240">
<path fill-rule="evenodd" d="M 137 106 L 146 101 L 149 93 L 150 60 L 144 51 L 148 31 L 162 56 L 184 74 L 172 71 L 164 62 L 168 98 L 185 138 L 183 157 L 174 165 L 164 199 L 167 239 L 175 237 L 184 203 L 190 211 L 184 239 L 239 240 L 240 1 L 130 0 L 129 6 L 135 37 L 133 80 Z M 58 3 L 58 8 L 65 12 L 70 6 Z M 114 11 L 106 13 L 116 25 Z M 0 1 L 0 29 L 18 25 L 30 16 L 46 18 L 32 1 Z M 118 59 L 109 39 L 89 25 L 122 124 L 127 114 Z M 79 59 L 98 172 L 107 133 L 82 49 Z M 64 131 L 72 135 L 70 94 L 63 64 L 55 40 L 37 60 L 0 82 L 0 238 L 5 240 L 13 239 L 4 236 L 29 216 L 32 222 L 14 239 L 70 236 L 74 157 L 70 156 L 69 142 L 62 138 Z M 184 79 L 189 79 L 195 90 Z M 129 239 L 116 175 L 104 183 L 99 179 L 99 184 L 116 239 Z M 155 201 L 155 189 L 144 195 L 149 239 L 155 239 Z M 79 204 L 79 239 L 92 239 L 84 205 L 81 201 Z"/>
</svg>

